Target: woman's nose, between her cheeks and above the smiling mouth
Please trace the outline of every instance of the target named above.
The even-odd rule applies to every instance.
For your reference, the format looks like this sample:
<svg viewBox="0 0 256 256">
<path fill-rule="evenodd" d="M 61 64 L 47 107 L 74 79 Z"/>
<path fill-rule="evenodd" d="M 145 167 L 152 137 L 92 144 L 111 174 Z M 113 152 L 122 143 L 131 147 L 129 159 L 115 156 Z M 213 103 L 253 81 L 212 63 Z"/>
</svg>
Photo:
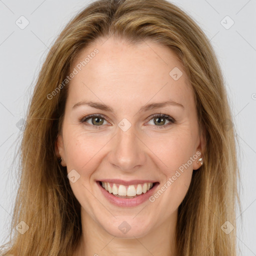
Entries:
<svg viewBox="0 0 256 256">
<path fill-rule="evenodd" d="M 133 172 L 142 166 L 146 160 L 145 145 L 133 126 L 123 131 L 117 127 L 117 133 L 112 141 L 112 150 L 108 160 L 115 168 L 125 172 Z"/>
</svg>

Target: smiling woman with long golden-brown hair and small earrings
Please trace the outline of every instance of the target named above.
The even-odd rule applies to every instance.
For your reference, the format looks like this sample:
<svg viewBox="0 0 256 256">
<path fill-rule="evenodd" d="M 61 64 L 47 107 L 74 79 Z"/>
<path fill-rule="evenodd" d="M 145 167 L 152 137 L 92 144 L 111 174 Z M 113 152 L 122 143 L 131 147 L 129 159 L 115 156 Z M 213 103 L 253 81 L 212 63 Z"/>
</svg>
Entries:
<svg viewBox="0 0 256 256">
<path fill-rule="evenodd" d="M 221 71 L 165 0 L 98 0 L 39 73 L 2 255 L 236 255 L 238 168 Z"/>
</svg>

